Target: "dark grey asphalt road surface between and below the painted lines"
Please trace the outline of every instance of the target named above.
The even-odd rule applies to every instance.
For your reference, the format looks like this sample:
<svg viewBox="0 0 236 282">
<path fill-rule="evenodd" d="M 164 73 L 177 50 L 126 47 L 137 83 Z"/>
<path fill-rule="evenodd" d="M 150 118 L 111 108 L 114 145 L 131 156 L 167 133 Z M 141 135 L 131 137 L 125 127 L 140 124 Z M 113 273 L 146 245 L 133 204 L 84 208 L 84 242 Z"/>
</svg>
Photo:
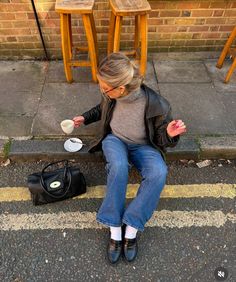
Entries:
<svg viewBox="0 0 236 282">
<path fill-rule="evenodd" d="M 40 171 L 43 162 L 0 167 L 0 187 L 26 186 L 28 174 Z M 87 183 L 105 184 L 104 164 L 81 163 Z M 195 162 L 169 164 L 167 184 L 236 183 L 236 162 L 215 161 L 199 169 Z M 140 180 L 131 171 L 130 183 Z M 2 190 L 3 191 L 3 190 Z M 1 193 L 1 190 L 0 190 Z M 33 207 L 30 201 L 2 202 L 3 215 L 96 212 L 101 199 L 67 200 Z M 235 198 L 161 199 L 157 211 L 209 211 L 235 214 Z M 1 223 L 0 223 L 1 224 Z M 236 281 L 235 222 L 220 227 L 147 227 L 138 234 L 135 262 L 106 261 L 108 229 L 43 229 L 0 231 L 0 281 L 217 281 L 214 272 L 224 267 L 225 281 Z M 221 273 L 222 274 L 222 273 Z M 220 281 L 220 280 L 219 280 Z M 223 281 L 223 280 L 222 280 Z"/>
</svg>

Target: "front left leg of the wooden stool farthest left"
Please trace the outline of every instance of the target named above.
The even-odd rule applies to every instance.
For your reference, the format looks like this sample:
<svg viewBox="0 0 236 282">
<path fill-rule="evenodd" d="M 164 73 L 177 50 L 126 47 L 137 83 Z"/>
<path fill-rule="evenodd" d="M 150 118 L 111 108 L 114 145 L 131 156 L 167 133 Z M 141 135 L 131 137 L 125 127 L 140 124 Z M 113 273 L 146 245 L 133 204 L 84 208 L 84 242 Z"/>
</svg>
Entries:
<svg viewBox="0 0 236 282">
<path fill-rule="evenodd" d="M 66 74 L 66 79 L 68 82 L 73 81 L 70 63 L 70 49 L 69 49 L 69 27 L 68 27 L 68 15 L 61 14 L 61 42 L 62 42 L 62 55 L 64 62 L 64 69 Z"/>
</svg>

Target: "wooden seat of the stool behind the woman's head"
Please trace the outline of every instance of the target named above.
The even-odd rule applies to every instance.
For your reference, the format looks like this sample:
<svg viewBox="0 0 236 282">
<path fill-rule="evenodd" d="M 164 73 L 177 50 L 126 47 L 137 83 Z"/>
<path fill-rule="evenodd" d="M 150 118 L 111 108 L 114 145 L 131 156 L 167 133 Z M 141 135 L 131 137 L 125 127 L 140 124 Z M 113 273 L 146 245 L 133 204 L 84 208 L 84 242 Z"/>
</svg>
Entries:
<svg viewBox="0 0 236 282">
<path fill-rule="evenodd" d="M 142 15 L 151 11 L 146 0 L 110 0 L 112 11 L 118 16 Z"/>
</svg>

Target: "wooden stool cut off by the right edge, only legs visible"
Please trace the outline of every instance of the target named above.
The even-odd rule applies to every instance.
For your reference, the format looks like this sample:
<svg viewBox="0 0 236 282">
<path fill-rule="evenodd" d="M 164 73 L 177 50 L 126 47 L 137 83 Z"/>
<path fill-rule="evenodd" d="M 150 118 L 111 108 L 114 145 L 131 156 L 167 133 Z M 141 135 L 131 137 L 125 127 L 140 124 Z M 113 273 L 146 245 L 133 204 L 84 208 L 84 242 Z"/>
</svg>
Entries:
<svg viewBox="0 0 236 282">
<path fill-rule="evenodd" d="M 217 68 L 221 68 L 223 65 L 223 62 L 225 60 L 225 57 L 229 54 L 231 56 L 231 59 L 233 61 L 227 75 L 225 78 L 225 83 L 229 82 L 231 75 L 233 74 L 234 69 L 236 68 L 236 48 L 231 48 L 231 45 L 233 44 L 234 40 L 236 39 L 236 26 L 234 27 L 233 31 L 230 34 L 230 37 L 228 38 L 227 42 L 225 43 L 224 49 L 220 55 L 220 58 L 217 62 Z"/>
</svg>

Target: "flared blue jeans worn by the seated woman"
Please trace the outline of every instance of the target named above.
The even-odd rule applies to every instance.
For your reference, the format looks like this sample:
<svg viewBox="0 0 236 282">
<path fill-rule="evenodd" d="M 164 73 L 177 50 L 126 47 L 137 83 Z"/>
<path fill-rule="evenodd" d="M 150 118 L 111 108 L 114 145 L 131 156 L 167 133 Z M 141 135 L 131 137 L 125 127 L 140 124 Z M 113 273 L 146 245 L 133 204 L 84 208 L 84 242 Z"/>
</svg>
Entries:
<svg viewBox="0 0 236 282">
<path fill-rule="evenodd" d="M 127 144 L 112 134 L 103 140 L 102 149 L 107 161 L 107 191 L 97 221 L 114 227 L 124 223 L 143 231 L 157 207 L 167 166 L 152 146 Z M 125 209 L 129 161 L 141 173 L 142 182 L 136 197 Z"/>
</svg>

